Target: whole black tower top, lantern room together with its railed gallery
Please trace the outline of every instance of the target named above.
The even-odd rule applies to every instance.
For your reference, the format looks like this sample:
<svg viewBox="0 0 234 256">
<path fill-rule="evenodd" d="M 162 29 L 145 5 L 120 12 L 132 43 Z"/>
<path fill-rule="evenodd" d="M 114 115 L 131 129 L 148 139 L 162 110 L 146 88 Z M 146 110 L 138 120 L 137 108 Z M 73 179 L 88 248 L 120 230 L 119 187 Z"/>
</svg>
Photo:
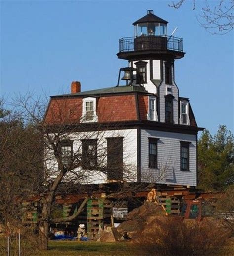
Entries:
<svg viewBox="0 0 234 256">
<path fill-rule="evenodd" d="M 168 35 L 168 22 L 148 10 L 147 15 L 133 23 L 134 36 L 119 39 L 118 58 L 134 60 L 151 58 L 180 59 L 184 57 L 183 39 Z"/>
</svg>

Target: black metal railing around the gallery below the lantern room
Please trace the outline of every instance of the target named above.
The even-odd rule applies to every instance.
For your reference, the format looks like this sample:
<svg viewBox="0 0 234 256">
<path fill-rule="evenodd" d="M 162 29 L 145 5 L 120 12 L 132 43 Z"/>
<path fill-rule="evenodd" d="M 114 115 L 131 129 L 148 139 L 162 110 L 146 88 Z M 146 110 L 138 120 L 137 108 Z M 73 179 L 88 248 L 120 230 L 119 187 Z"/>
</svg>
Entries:
<svg viewBox="0 0 234 256">
<path fill-rule="evenodd" d="M 119 52 L 173 50 L 183 52 L 183 39 L 173 36 L 142 36 L 119 39 Z"/>
</svg>

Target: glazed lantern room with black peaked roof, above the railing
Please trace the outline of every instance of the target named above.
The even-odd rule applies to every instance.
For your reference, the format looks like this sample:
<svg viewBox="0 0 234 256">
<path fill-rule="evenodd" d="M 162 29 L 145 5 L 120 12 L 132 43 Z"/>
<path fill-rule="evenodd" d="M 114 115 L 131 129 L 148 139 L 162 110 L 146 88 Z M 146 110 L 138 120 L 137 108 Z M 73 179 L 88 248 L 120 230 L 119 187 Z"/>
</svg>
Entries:
<svg viewBox="0 0 234 256">
<path fill-rule="evenodd" d="M 134 36 L 166 36 L 167 21 L 153 14 L 153 10 L 148 10 L 147 15 L 133 23 Z"/>
</svg>

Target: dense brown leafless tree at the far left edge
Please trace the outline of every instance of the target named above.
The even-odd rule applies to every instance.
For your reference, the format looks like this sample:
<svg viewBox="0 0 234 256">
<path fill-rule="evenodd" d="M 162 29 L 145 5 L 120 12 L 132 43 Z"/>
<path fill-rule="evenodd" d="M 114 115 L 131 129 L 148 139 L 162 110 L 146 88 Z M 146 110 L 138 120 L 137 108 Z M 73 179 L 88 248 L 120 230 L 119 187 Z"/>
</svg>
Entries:
<svg viewBox="0 0 234 256">
<path fill-rule="evenodd" d="M 36 143 L 37 142 L 37 143 Z M 11 252 L 14 248 L 16 231 L 20 230 L 22 253 L 29 251 L 30 228 L 19 221 L 25 215 L 22 204 L 32 191 L 39 190 L 42 174 L 42 140 L 39 132 L 24 125 L 21 116 L 6 111 L 1 105 L 0 116 L 0 223 L 9 237 Z M 27 234 L 27 239 L 24 240 Z M 1 248 L 1 253 L 6 252 Z M 0 254 L 1 254 L 0 253 Z M 32 253 L 32 252 L 31 252 Z"/>
</svg>

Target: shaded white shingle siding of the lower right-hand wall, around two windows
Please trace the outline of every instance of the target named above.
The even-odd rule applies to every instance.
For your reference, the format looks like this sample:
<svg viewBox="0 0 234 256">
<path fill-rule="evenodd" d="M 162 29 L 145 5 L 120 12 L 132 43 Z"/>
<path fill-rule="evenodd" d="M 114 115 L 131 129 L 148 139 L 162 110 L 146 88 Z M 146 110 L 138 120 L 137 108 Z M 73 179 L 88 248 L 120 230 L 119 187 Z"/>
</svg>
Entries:
<svg viewBox="0 0 234 256">
<path fill-rule="evenodd" d="M 158 167 L 160 170 L 148 167 L 149 137 L 159 139 Z M 189 148 L 189 171 L 180 170 L 180 141 L 191 142 Z M 163 175 L 163 170 L 168 173 Z M 196 136 L 142 129 L 141 181 L 196 186 Z"/>
</svg>

